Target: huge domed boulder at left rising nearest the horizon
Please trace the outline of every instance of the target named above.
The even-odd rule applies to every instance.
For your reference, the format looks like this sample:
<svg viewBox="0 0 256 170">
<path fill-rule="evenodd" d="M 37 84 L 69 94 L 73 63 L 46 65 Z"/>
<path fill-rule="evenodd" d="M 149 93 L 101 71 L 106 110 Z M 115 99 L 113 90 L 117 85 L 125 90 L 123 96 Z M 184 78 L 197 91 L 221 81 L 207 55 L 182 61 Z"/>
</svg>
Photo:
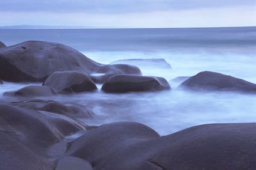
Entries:
<svg viewBox="0 0 256 170">
<path fill-rule="evenodd" d="M 0 49 L 0 79 L 43 82 L 55 71 L 90 74 L 98 63 L 72 47 L 45 41 L 26 41 Z"/>
</svg>

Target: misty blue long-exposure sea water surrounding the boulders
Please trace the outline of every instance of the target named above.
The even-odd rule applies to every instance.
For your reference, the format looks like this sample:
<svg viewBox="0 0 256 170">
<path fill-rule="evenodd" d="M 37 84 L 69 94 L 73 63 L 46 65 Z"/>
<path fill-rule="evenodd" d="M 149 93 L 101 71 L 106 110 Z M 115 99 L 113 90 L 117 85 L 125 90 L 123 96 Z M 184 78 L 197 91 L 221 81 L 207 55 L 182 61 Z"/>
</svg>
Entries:
<svg viewBox="0 0 256 170">
<path fill-rule="evenodd" d="M 186 29 L 0 29 L 7 45 L 27 40 L 67 44 L 87 57 L 108 64 L 118 59 L 164 58 L 170 68 L 140 67 L 145 76 L 160 76 L 168 81 L 178 76 L 193 76 L 200 71 L 216 71 L 256 83 L 256 28 Z M 153 64 L 152 64 L 153 65 Z M 33 83 L 34 84 L 34 83 Z M 37 83 L 38 84 L 38 83 Z M 0 100 L 28 83 L 4 82 Z M 171 91 L 154 93 L 93 93 L 44 97 L 59 102 L 77 102 L 95 112 L 90 125 L 114 121 L 136 121 L 167 135 L 187 127 L 207 123 L 256 121 L 256 95 L 229 92 L 184 91 L 170 81 Z"/>
</svg>

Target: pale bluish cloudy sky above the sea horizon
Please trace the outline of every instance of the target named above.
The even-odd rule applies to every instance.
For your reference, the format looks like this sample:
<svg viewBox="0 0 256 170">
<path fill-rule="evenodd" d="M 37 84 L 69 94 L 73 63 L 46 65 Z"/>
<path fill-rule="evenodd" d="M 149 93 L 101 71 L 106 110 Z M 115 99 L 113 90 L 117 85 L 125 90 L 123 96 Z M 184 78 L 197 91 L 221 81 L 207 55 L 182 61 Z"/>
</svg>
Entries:
<svg viewBox="0 0 256 170">
<path fill-rule="evenodd" d="M 256 0 L 1 0 L 0 26 L 256 26 Z"/>
</svg>

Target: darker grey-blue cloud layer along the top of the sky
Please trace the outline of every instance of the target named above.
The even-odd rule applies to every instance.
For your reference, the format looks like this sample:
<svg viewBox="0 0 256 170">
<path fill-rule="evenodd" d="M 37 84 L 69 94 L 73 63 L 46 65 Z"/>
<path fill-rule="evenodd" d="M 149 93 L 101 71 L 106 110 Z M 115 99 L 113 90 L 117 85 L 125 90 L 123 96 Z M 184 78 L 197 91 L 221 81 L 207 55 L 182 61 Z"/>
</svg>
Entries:
<svg viewBox="0 0 256 170">
<path fill-rule="evenodd" d="M 0 11 L 123 14 L 197 8 L 254 6 L 255 0 L 1 0 Z"/>
</svg>

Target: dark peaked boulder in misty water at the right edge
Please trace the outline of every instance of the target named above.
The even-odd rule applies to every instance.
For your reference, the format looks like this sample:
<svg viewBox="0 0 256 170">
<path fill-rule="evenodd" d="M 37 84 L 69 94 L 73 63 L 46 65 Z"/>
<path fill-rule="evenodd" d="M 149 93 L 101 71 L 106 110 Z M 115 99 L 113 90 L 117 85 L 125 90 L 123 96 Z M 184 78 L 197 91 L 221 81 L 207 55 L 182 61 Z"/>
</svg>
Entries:
<svg viewBox="0 0 256 170">
<path fill-rule="evenodd" d="M 211 71 L 202 71 L 180 85 L 181 88 L 196 91 L 236 91 L 256 93 L 256 84 L 243 79 Z"/>
</svg>

